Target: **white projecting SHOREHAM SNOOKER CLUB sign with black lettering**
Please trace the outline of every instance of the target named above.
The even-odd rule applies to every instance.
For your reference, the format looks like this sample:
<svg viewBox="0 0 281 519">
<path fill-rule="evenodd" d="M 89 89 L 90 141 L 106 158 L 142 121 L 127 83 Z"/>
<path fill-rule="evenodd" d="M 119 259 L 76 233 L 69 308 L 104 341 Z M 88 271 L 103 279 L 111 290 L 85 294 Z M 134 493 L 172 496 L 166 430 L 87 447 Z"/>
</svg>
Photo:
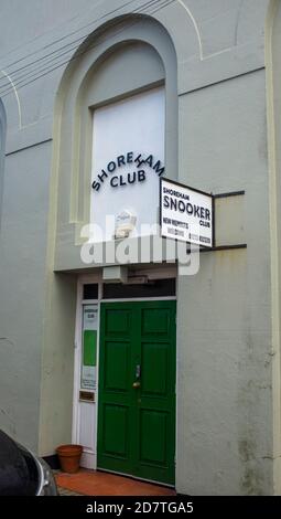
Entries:
<svg viewBox="0 0 281 519">
<path fill-rule="evenodd" d="M 172 180 L 160 181 L 161 235 L 213 247 L 213 197 Z"/>
</svg>

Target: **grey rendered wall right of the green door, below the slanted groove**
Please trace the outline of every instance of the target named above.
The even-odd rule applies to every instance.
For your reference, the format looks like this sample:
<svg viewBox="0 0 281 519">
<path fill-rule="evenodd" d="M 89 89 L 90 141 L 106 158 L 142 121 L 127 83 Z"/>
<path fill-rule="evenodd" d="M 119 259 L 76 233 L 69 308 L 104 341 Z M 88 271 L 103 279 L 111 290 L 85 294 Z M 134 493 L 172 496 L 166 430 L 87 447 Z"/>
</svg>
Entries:
<svg viewBox="0 0 281 519">
<path fill-rule="evenodd" d="M 186 463 L 177 474 L 192 495 L 272 489 L 264 95 L 258 71 L 180 102 L 181 181 L 214 193 L 246 190 L 247 250 L 202 254 L 198 275 L 179 279 L 177 458 Z"/>
</svg>

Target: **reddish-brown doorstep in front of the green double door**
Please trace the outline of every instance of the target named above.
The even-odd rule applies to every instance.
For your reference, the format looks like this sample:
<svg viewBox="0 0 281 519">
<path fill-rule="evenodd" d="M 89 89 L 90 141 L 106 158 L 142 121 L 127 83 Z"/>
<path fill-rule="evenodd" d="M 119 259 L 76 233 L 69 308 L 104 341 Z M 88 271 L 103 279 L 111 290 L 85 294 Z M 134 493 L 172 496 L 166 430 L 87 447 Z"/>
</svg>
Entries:
<svg viewBox="0 0 281 519">
<path fill-rule="evenodd" d="M 55 473 L 60 495 L 84 496 L 175 496 L 173 488 L 140 481 L 100 470 L 80 468 L 78 473 Z M 65 494 L 64 491 L 69 491 Z"/>
</svg>

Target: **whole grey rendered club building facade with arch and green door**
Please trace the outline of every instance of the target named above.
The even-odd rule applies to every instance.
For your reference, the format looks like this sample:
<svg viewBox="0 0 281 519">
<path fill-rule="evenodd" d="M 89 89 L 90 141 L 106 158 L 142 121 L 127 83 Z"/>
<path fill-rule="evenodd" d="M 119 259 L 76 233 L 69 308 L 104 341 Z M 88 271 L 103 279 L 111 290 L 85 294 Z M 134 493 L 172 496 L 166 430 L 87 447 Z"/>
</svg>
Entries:
<svg viewBox="0 0 281 519">
<path fill-rule="evenodd" d="M 2 4 L 0 426 L 279 495 L 281 2 Z M 160 177 L 214 195 L 212 248 L 158 235 Z"/>
</svg>

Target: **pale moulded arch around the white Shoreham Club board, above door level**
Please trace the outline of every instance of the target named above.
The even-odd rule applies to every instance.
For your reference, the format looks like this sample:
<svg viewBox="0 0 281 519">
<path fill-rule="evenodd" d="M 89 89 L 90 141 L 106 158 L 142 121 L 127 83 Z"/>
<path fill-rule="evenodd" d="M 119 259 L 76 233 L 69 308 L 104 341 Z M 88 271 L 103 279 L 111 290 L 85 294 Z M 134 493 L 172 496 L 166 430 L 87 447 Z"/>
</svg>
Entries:
<svg viewBox="0 0 281 519">
<path fill-rule="evenodd" d="M 89 223 L 91 110 L 165 85 L 165 171 L 177 177 L 177 67 L 166 30 L 149 17 L 102 25 L 78 49 L 56 99 L 53 193 L 56 271 L 83 268 L 80 229 Z"/>
</svg>

